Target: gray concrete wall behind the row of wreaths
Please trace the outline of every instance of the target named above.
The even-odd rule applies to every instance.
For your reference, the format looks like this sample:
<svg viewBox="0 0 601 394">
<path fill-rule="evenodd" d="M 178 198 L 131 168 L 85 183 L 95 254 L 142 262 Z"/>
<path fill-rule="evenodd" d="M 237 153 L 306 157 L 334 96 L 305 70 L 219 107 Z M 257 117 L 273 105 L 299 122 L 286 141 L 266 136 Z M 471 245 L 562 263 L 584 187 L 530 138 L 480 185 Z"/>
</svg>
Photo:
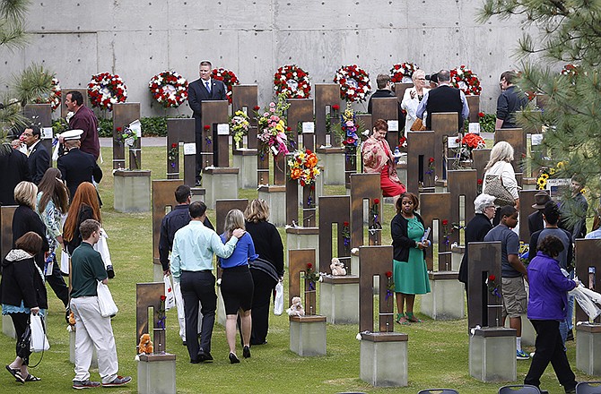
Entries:
<svg viewBox="0 0 601 394">
<path fill-rule="evenodd" d="M 272 96 L 277 67 L 298 64 L 312 82 L 330 82 L 343 64 L 378 73 L 414 62 L 427 73 L 466 64 L 483 84 L 481 107 L 492 112 L 499 75 L 518 20 L 475 22 L 481 0 L 55 0 L 30 6 L 30 46 L 0 52 L 4 82 L 31 61 L 57 73 L 64 88 L 85 87 L 92 73 L 118 73 L 128 101 L 143 116 L 163 115 L 148 90 L 152 75 L 174 69 L 196 80 L 200 60 L 258 83 Z M 6 83 L 2 84 L 5 89 Z M 366 106 L 358 106 L 365 110 Z M 191 111 L 184 105 L 180 113 Z M 170 110 L 170 114 L 177 114 Z"/>
</svg>

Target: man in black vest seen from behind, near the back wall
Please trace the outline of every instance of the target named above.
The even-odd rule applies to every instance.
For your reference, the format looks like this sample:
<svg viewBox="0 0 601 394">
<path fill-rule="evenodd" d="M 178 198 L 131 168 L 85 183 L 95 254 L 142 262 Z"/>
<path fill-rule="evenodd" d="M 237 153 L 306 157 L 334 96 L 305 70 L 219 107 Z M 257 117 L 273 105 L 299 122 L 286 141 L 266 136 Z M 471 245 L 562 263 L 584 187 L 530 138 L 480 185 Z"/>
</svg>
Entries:
<svg viewBox="0 0 601 394">
<path fill-rule="evenodd" d="M 432 114 L 440 112 L 457 112 L 459 131 L 463 129 L 463 121 L 469 116 L 466 95 L 463 91 L 450 86 L 449 70 L 440 70 L 437 74 L 439 87 L 428 91 L 420 105 L 417 107 L 416 116 L 423 119 L 423 113 L 428 111 L 426 117 L 426 130 L 432 129 Z"/>
</svg>

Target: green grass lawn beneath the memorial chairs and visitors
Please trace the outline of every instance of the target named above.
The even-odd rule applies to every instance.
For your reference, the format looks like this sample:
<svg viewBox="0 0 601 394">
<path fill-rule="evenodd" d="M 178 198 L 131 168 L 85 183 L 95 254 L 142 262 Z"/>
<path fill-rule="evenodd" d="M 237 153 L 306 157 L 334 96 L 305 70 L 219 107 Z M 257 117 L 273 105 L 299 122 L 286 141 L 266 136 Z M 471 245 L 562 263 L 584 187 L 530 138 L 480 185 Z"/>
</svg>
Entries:
<svg viewBox="0 0 601 394">
<path fill-rule="evenodd" d="M 135 284 L 152 281 L 152 218 L 151 213 L 123 214 L 113 210 L 113 177 L 111 176 L 112 151 L 102 149 L 104 179 L 100 194 L 103 227 L 109 234 L 109 246 L 117 277 L 109 287 L 119 307 L 113 319 L 117 340 L 119 373 L 132 375 L 134 381 L 126 388 L 111 389 L 115 393 L 136 391 L 137 376 L 134 361 L 135 345 Z M 164 179 L 166 171 L 164 148 L 144 148 L 143 168 L 152 170 L 152 179 Z M 327 186 L 327 194 L 344 193 L 344 187 Z M 256 198 L 256 190 L 240 191 L 241 198 Z M 392 206 L 384 206 L 383 244 L 390 244 L 389 221 Z M 214 219 L 214 211 L 209 211 Z M 285 233 L 281 230 L 285 243 Z M 287 286 L 284 282 L 284 286 Z M 31 372 L 42 378 L 40 382 L 25 385 L 14 382 L 8 373 L 0 373 L 0 385 L 14 393 L 62 393 L 71 389 L 74 365 L 69 363 L 69 336 L 66 331 L 62 304 L 48 287 L 48 340 L 50 350 L 44 354 L 39 367 Z M 417 307 L 419 310 L 419 297 Z M 411 326 L 396 325 L 396 331 L 409 334 L 409 386 L 396 389 L 376 389 L 359 380 L 359 342 L 355 339 L 356 325 L 327 325 L 327 355 L 300 357 L 289 350 L 289 323 L 286 315 L 270 318 L 268 344 L 252 348 L 252 357 L 241 364 L 231 365 L 227 359 L 228 347 L 222 326 L 215 324 L 213 331 L 213 364 L 189 364 L 186 347 L 179 339 L 179 326 L 175 310 L 167 313 L 167 350 L 177 355 L 177 388 L 179 393 L 335 393 L 340 391 L 416 393 L 435 387 L 448 387 L 466 394 L 496 393 L 503 384 L 511 382 L 482 383 L 469 376 L 467 321 L 432 321 Z M 14 339 L 0 335 L 0 348 L 4 364 L 14 357 Z M 528 352 L 532 348 L 526 349 Z M 239 351 L 241 355 L 241 351 Z M 575 343 L 568 343 L 568 356 L 575 368 Z M 39 355 L 32 355 L 32 363 Z M 390 360 L 395 363 L 395 360 Z M 529 361 L 518 361 L 518 381 L 523 381 Z M 578 380 L 599 380 L 577 373 Z M 92 371 L 93 380 L 99 380 Z M 543 376 L 543 387 L 551 393 L 562 393 L 549 368 Z M 14 390 L 14 391 L 13 391 Z M 102 390 L 102 389 L 98 389 Z"/>
</svg>

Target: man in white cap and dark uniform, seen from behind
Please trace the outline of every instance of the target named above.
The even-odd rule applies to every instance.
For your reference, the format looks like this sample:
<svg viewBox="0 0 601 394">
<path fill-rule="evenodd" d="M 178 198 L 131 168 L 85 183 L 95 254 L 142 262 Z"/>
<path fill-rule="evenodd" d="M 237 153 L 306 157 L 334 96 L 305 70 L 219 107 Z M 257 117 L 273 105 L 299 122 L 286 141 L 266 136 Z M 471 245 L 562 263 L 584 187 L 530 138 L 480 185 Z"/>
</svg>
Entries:
<svg viewBox="0 0 601 394">
<path fill-rule="evenodd" d="M 96 164 L 96 158 L 79 149 L 81 146 L 79 138 L 82 133 L 81 130 L 70 130 L 62 134 L 67 152 L 57 160 L 57 167 L 72 199 L 77 186 L 83 182 L 100 183 L 102 179 L 102 170 Z"/>
</svg>

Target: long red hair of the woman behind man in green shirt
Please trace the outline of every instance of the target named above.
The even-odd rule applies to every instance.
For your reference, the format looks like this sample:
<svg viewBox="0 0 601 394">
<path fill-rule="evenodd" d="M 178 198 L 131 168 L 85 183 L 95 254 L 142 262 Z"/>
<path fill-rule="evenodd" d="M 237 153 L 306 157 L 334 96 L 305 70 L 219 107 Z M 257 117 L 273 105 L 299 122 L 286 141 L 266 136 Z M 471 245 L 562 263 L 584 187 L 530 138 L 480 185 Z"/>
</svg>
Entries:
<svg viewBox="0 0 601 394">
<path fill-rule="evenodd" d="M 83 182 L 75 191 L 66 216 L 65 226 L 63 226 L 63 241 L 65 250 L 69 255 L 82 243 L 79 226 L 83 223 L 83 220 L 89 218 L 102 222 L 96 188 L 89 182 Z"/>
</svg>

